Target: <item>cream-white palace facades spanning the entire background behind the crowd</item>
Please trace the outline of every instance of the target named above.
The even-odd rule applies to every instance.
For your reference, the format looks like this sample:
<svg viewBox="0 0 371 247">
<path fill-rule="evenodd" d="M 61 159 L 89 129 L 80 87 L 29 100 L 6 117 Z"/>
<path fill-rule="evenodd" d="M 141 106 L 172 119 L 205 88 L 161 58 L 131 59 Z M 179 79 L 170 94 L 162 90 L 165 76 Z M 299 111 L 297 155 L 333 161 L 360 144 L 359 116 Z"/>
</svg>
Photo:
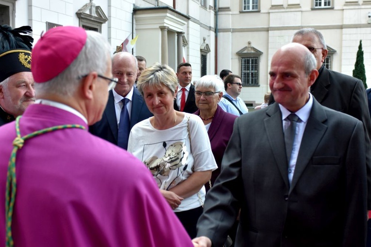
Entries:
<svg viewBox="0 0 371 247">
<path fill-rule="evenodd" d="M 116 50 L 138 36 L 134 55 L 169 64 L 183 58 L 193 77 L 229 69 L 242 77 L 251 108 L 269 92 L 274 52 L 305 27 L 321 31 L 327 66 L 352 75 L 362 40 L 371 87 L 371 0 L 0 0 L 0 24 L 29 25 L 33 38 L 58 25 L 81 26 L 107 37 Z"/>
</svg>

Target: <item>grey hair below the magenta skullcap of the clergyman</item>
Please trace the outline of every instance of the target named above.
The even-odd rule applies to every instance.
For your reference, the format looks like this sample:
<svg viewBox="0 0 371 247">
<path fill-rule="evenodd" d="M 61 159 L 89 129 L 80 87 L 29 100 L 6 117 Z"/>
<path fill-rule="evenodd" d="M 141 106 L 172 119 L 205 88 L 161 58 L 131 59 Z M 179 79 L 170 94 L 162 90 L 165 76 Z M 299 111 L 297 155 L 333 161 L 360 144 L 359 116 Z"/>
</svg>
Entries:
<svg viewBox="0 0 371 247">
<path fill-rule="evenodd" d="M 57 94 L 71 97 L 80 85 L 81 76 L 93 71 L 104 74 L 110 59 L 111 46 L 108 41 L 96 31 L 86 31 L 86 43 L 79 56 L 58 76 L 44 83 L 35 83 L 37 94 Z"/>
</svg>

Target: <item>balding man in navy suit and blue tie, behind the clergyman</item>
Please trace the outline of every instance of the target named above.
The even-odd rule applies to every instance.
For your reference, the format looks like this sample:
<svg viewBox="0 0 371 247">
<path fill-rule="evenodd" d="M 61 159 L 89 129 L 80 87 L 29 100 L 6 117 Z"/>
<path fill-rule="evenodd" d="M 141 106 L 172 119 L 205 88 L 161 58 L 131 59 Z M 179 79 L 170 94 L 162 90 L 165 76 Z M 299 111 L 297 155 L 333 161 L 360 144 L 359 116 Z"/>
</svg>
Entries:
<svg viewBox="0 0 371 247">
<path fill-rule="evenodd" d="M 129 132 L 138 122 L 145 120 L 153 114 L 148 110 L 142 95 L 133 87 L 137 77 L 138 62 L 129 52 L 119 52 L 112 59 L 112 74 L 118 78 L 116 87 L 109 92 L 109 98 L 102 119 L 89 127 L 89 131 L 102 139 L 127 149 Z M 123 110 L 123 100 L 128 99 L 126 108 L 129 117 L 129 128 L 125 129 L 123 140 L 120 140 L 119 123 Z"/>
</svg>

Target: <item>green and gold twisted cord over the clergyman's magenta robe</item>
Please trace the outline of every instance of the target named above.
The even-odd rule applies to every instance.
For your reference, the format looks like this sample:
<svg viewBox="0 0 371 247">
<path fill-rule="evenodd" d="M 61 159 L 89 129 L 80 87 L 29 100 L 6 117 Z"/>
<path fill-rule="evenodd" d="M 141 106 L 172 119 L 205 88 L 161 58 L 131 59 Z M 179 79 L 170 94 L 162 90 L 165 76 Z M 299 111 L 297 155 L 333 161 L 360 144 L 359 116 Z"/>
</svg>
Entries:
<svg viewBox="0 0 371 247">
<path fill-rule="evenodd" d="M 14 202 L 16 201 L 16 154 L 18 149 L 23 147 L 24 141 L 35 136 L 40 136 L 42 134 L 52 132 L 60 129 L 68 128 L 80 128 L 85 129 L 85 126 L 80 124 L 65 124 L 58 125 L 42 130 L 35 131 L 31 134 L 21 137 L 19 131 L 19 119 L 21 116 L 16 118 L 16 139 L 13 141 L 13 151 L 10 155 L 8 172 L 6 178 L 6 193 L 5 193 L 5 220 L 6 220 L 6 247 L 13 247 L 13 237 L 12 237 L 12 216 L 14 209 Z"/>
</svg>

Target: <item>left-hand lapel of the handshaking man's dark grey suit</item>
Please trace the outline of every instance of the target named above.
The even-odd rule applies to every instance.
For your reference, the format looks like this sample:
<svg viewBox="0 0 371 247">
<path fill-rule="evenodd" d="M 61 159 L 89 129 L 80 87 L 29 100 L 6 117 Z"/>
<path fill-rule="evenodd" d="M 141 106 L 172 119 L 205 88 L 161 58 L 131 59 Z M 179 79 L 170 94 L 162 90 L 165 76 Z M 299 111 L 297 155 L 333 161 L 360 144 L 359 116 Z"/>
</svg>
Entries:
<svg viewBox="0 0 371 247">
<path fill-rule="evenodd" d="M 283 136 L 282 127 L 282 114 L 279 110 L 278 104 L 275 103 L 270 109 L 267 110 L 266 114 L 267 118 L 264 119 L 264 127 L 266 129 L 269 144 L 271 146 L 275 162 L 281 172 L 282 179 L 284 180 L 287 188 L 289 188 L 285 139 Z"/>
</svg>

